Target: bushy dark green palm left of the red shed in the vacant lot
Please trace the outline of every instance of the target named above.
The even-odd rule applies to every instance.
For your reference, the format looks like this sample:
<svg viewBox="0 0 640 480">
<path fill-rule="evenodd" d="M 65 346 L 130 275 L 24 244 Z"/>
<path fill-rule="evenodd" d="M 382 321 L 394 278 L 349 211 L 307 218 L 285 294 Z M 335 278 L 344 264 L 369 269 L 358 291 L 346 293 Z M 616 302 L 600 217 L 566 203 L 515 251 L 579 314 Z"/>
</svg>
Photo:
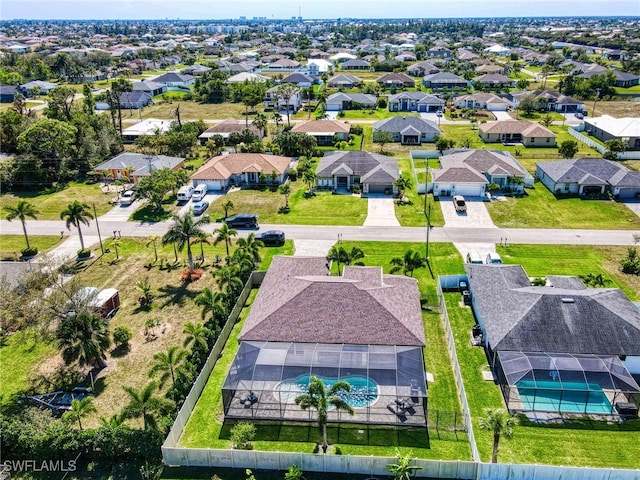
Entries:
<svg viewBox="0 0 640 480">
<path fill-rule="evenodd" d="M 66 364 L 77 360 L 81 367 L 107 366 L 104 352 L 111 345 L 109 321 L 97 313 L 84 310 L 63 318 L 56 336 Z"/>
</svg>

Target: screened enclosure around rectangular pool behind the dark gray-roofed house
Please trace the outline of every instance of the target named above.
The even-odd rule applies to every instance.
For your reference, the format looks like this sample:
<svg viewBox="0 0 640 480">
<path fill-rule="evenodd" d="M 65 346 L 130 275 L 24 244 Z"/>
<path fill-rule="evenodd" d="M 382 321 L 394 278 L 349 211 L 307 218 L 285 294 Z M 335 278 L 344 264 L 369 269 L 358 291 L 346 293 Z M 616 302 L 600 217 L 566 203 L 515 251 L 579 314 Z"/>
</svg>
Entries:
<svg viewBox="0 0 640 480">
<path fill-rule="evenodd" d="M 616 356 L 502 351 L 497 360 L 511 412 L 615 415 L 640 401 L 640 387 Z"/>
</svg>

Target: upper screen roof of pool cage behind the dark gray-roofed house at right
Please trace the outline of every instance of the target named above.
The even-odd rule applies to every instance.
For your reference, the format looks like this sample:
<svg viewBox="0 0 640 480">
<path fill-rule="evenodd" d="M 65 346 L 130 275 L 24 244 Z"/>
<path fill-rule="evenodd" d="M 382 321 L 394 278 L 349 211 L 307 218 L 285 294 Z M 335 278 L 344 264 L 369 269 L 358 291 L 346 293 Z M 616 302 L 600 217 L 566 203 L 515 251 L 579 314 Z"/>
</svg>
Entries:
<svg viewBox="0 0 640 480">
<path fill-rule="evenodd" d="M 534 388 L 549 388 L 551 380 L 561 389 L 640 392 L 616 356 L 502 351 L 498 358 L 509 385 L 527 380 L 534 382 Z"/>
</svg>

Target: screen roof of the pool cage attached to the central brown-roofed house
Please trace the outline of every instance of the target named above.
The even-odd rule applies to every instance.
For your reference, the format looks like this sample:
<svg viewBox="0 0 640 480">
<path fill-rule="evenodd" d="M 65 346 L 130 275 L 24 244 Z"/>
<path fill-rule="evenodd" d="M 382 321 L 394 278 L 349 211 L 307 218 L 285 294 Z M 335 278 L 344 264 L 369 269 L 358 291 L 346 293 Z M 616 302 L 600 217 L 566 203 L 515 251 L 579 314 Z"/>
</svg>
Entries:
<svg viewBox="0 0 640 480">
<path fill-rule="evenodd" d="M 361 376 L 389 392 L 409 395 L 426 385 L 422 349 L 394 345 L 349 345 L 245 341 L 240 344 L 223 390 L 272 390 L 303 375 L 344 379 Z M 419 396 L 426 396 L 421 388 Z"/>
</svg>

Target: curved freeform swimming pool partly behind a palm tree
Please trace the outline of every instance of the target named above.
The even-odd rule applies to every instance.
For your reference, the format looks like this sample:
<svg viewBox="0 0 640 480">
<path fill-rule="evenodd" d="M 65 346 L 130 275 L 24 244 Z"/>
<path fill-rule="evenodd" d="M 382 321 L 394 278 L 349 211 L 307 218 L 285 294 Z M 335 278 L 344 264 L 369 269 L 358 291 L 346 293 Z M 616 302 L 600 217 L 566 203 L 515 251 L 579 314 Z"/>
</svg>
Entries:
<svg viewBox="0 0 640 480">
<path fill-rule="evenodd" d="M 316 376 L 322 380 L 327 387 L 330 387 L 338 381 L 337 378 Z M 298 395 L 307 391 L 310 379 L 311 375 L 301 375 L 297 378 L 284 380 L 276 386 L 273 394 L 276 399 L 282 403 L 294 403 Z M 349 382 L 351 391 L 348 393 L 340 393 L 338 396 L 353 408 L 368 407 L 378 399 L 378 384 L 370 378 L 354 375 L 341 378 L 340 380 Z"/>
</svg>

